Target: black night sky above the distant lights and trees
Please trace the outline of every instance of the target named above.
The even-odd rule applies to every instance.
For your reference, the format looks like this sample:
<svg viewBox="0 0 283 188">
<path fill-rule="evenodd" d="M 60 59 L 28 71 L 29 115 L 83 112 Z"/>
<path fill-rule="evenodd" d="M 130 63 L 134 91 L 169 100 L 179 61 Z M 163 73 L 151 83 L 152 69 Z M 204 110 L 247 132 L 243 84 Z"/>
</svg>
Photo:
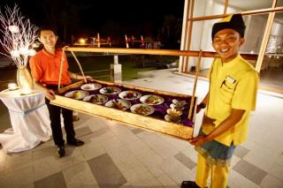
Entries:
<svg viewBox="0 0 283 188">
<path fill-rule="evenodd" d="M 1 10 L 4 11 L 5 4 L 12 7 L 14 3 L 36 26 L 56 22 L 61 35 L 66 26 L 67 37 L 97 32 L 113 34 L 115 30 L 120 35 L 157 36 L 164 25 L 164 16 L 173 15 L 181 22 L 184 8 L 184 0 L 0 0 Z"/>
</svg>

